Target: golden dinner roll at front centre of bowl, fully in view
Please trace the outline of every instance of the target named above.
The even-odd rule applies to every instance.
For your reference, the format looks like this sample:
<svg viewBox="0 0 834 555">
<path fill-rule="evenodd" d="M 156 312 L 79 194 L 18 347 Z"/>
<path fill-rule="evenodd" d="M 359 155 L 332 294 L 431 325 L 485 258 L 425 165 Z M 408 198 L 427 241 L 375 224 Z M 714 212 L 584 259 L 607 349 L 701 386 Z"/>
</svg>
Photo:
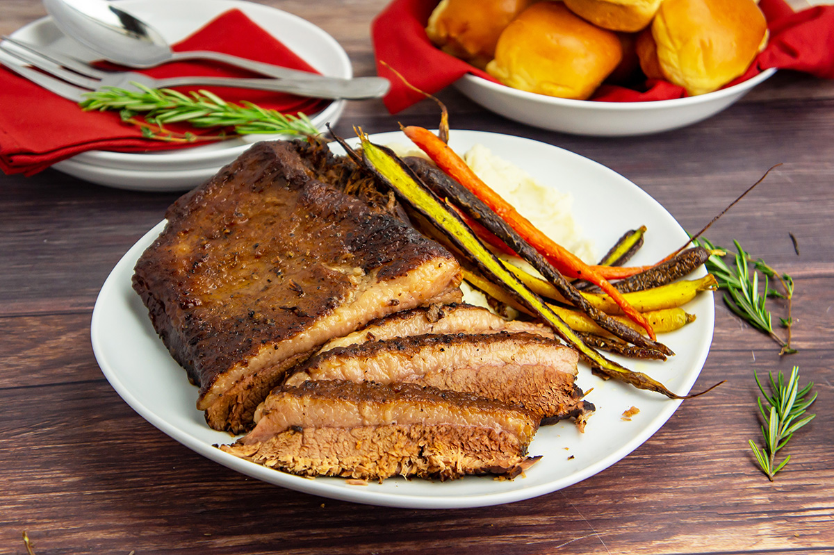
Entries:
<svg viewBox="0 0 834 555">
<path fill-rule="evenodd" d="M 583 100 L 622 57 L 615 32 L 600 29 L 562 2 L 528 7 L 501 33 L 486 71 L 510 87 Z"/>
</svg>

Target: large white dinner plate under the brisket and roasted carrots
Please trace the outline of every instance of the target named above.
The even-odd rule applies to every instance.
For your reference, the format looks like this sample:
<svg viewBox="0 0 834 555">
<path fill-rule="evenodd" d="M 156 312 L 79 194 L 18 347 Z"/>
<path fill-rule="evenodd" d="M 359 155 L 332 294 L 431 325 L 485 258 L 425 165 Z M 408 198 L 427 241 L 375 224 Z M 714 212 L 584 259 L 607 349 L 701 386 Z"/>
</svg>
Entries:
<svg viewBox="0 0 834 555">
<path fill-rule="evenodd" d="M 407 143 L 399 133 L 382 133 L 377 143 Z M 475 131 L 452 131 L 450 145 L 463 153 L 480 143 L 524 168 L 545 185 L 571 193 L 575 219 L 600 249 L 607 249 L 626 229 L 648 227 L 646 244 L 634 263 L 654 263 L 686 242 L 675 218 L 628 179 L 598 163 L 549 144 L 526 138 Z M 601 223 L 601 224 L 600 224 Z M 133 266 L 162 231 L 159 223 L 124 255 L 104 283 L 93 310 L 93 351 L 117 393 L 149 423 L 197 453 L 253 478 L 325 498 L 391 507 L 479 507 L 514 502 L 554 492 L 599 473 L 650 438 L 680 405 L 657 393 L 639 391 L 613 380 L 595 378 L 581 367 L 577 383 L 596 405 L 585 433 L 572 423 L 540 428 L 531 455 L 543 455 L 524 477 L 495 480 L 466 477 L 451 482 L 393 478 L 384 483 L 351 485 L 339 478 L 299 478 L 235 458 L 214 448 L 230 443 L 226 433 L 207 428 L 194 404 L 197 388 L 154 333 L 148 311 L 131 288 Z M 703 272 L 701 272 L 701 275 Z M 672 391 L 688 393 L 706 360 L 714 321 L 711 293 L 686 305 L 694 323 L 661 336 L 677 356 L 666 362 L 623 360 L 648 373 Z M 621 419 L 631 407 L 640 413 Z"/>
</svg>

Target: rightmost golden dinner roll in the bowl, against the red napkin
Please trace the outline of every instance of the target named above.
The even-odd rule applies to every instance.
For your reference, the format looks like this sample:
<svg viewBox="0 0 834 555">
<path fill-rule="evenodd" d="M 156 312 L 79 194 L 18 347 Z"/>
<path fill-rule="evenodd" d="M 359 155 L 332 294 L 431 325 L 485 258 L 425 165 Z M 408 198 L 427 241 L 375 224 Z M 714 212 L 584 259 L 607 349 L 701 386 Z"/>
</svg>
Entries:
<svg viewBox="0 0 834 555">
<path fill-rule="evenodd" d="M 648 77 L 696 95 L 746 72 L 766 43 L 765 16 L 753 0 L 664 0 L 637 53 Z"/>
</svg>

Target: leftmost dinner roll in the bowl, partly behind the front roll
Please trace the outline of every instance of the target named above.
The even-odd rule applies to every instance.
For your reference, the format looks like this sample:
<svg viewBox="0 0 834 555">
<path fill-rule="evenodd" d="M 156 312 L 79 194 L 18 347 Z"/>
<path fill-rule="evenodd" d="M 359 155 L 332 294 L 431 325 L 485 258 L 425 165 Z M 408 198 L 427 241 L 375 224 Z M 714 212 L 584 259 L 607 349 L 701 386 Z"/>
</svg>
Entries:
<svg viewBox="0 0 834 555">
<path fill-rule="evenodd" d="M 425 29 L 431 42 L 483 69 L 504 28 L 536 0 L 442 0 Z"/>
</svg>

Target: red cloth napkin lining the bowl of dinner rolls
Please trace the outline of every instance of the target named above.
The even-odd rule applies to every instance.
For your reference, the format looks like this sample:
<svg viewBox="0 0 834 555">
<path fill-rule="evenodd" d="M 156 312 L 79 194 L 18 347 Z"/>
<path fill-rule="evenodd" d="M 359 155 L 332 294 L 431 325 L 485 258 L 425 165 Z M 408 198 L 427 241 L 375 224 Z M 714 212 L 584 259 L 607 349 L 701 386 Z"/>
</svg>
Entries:
<svg viewBox="0 0 834 555">
<path fill-rule="evenodd" d="M 440 91 L 466 73 L 497 82 L 486 72 L 442 52 L 429 41 L 425 26 L 437 3 L 437 0 L 394 0 L 379 13 L 371 26 L 377 72 L 391 82 L 391 91 L 384 98 L 385 106 L 391 113 L 399 112 L 425 97 L 406 87 L 381 62 L 402 73 L 414 87 L 430 93 Z M 746 74 L 727 87 L 769 67 L 834 78 L 834 6 L 811 7 L 793 13 L 783 0 L 761 0 L 759 7 L 767 18 L 770 41 Z M 681 97 L 686 97 L 682 87 L 650 79 L 639 91 L 603 85 L 592 100 L 644 102 Z"/>
</svg>

